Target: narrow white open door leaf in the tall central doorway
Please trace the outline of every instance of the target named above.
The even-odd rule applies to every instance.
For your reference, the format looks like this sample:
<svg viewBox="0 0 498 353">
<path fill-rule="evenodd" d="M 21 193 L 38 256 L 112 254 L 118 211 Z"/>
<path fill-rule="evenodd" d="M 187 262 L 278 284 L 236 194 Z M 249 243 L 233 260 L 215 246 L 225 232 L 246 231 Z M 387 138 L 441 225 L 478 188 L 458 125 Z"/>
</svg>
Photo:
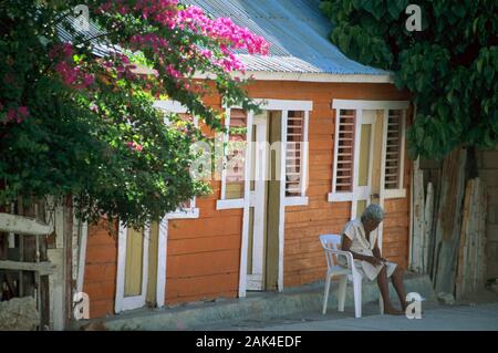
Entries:
<svg viewBox="0 0 498 353">
<path fill-rule="evenodd" d="M 253 116 L 252 126 L 256 125 L 256 144 L 250 148 L 256 148 L 255 167 L 255 190 L 249 194 L 249 206 L 253 207 L 252 227 L 252 269 L 247 278 L 248 290 L 263 289 L 264 268 L 264 214 L 266 214 L 266 180 L 268 164 L 268 112 Z M 251 128 L 252 128 L 251 126 Z M 252 150 L 248 150 L 252 157 Z M 252 167 L 252 163 L 251 163 Z M 250 170 L 249 175 L 251 175 Z"/>
</svg>

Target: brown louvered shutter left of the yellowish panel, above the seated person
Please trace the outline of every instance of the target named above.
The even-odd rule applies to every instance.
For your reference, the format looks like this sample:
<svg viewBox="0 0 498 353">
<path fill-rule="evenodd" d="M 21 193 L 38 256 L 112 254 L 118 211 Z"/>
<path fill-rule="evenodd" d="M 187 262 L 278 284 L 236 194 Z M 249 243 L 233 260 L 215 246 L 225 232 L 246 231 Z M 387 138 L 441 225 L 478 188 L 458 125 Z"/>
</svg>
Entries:
<svg viewBox="0 0 498 353">
<path fill-rule="evenodd" d="M 338 136 L 338 149 L 335 156 L 335 191 L 353 191 L 354 167 L 354 138 L 356 126 L 356 111 L 340 110 Z"/>
</svg>

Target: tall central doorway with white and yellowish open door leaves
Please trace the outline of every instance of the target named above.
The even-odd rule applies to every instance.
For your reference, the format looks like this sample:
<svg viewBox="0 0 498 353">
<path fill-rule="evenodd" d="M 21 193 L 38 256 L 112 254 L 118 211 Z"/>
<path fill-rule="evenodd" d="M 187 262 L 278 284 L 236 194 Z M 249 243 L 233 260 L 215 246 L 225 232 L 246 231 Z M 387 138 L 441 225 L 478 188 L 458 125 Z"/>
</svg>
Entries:
<svg viewBox="0 0 498 353">
<path fill-rule="evenodd" d="M 251 124 L 248 291 L 278 289 L 281 124 L 279 111 L 263 111 Z"/>
</svg>

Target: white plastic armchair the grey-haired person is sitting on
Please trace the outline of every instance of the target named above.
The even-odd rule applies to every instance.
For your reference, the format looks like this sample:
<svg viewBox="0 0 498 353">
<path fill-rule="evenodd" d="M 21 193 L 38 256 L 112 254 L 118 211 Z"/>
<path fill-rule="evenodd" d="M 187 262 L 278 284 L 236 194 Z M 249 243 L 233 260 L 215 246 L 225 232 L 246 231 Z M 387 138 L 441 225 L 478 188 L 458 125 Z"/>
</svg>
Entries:
<svg viewBox="0 0 498 353">
<path fill-rule="evenodd" d="M 322 243 L 323 250 L 326 257 L 326 280 L 325 280 L 325 293 L 323 295 L 323 309 L 322 313 L 326 312 L 326 303 L 329 300 L 330 282 L 332 276 L 339 277 L 339 298 L 338 298 L 338 311 L 344 311 L 344 302 L 346 294 L 347 280 L 353 282 L 354 292 L 354 315 L 356 318 L 362 316 L 362 280 L 363 276 L 354 267 L 353 255 L 350 251 L 340 250 L 341 247 L 341 236 L 339 235 L 322 235 L 320 236 L 320 242 Z M 347 268 L 342 267 L 338 263 L 338 256 L 343 256 L 347 260 Z M 384 302 L 382 301 L 382 295 L 378 295 L 378 304 L 381 308 L 381 314 L 384 313 Z"/>
</svg>

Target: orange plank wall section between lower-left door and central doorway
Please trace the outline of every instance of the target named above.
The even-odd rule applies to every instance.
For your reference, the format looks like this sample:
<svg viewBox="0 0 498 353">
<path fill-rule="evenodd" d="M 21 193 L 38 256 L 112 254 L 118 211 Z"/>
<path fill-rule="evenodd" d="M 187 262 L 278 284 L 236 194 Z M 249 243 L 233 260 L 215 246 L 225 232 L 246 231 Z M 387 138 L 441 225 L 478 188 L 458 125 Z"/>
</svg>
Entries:
<svg viewBox="0 0 498 353">
<path fill-rule="evenodd" d="M 169 221 L 167 304 L 237 297 L 242 209 L 216 210 L 219 184 L 197 199 L 198 219 Z"/>
</svg>

